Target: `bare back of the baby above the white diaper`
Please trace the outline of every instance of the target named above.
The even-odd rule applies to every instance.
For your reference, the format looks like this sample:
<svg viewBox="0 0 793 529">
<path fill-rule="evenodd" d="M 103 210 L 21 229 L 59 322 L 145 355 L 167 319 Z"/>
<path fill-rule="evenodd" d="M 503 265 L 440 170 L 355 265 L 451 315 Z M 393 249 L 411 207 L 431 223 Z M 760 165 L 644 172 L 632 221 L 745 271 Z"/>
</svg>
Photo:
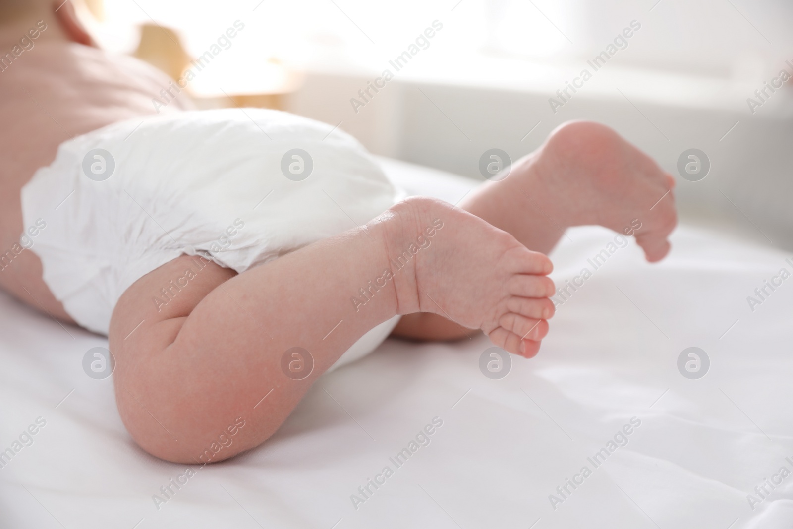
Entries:
<svg viewBox="0 0 793 529">
<path fill-rule="evenodd" d="M 62 41 L 41 41 L 0 72 L 0 287 L 29 305 L 70 318 L 41 278 L 41 263 L 22 251 L 20 190 L 59 144 L 105 125 L 156 113 L 152 98 L 168 78 L 125 56 Z M 187 105 L 178 98 L 164 112 Z M 64 197 L 66 198 L 66 197 Z M 46 228 L 44 228 L 46 229 Z M 35 245 L 35 237 L 30 238 Z"/>
</svg>

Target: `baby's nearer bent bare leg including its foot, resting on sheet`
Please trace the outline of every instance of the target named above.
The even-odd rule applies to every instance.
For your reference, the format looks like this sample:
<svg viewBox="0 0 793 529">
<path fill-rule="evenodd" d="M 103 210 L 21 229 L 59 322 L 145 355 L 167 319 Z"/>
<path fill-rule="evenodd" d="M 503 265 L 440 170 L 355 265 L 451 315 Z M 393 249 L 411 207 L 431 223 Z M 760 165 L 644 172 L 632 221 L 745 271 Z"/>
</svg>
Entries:
<svg viewBox="0 0 793 529">
<path fill-rule="evenodd" d="M 174 462 L 206 461 L 211 447 L 218 461 L 262 443 L 347 348 L 396 314 L 442 313 L 533 355 L 553 313 L 544 255 L 418 197 L 243 274 L 209 265 L 167 305 L 155 303 L 189 262 L 175 259 L 132 285 L 109 335 L 122 420 L 144 450 Z M 302 380 L 282 370 L 292 347 L 313 358 Z M 245 426 L 220 449 L 237 418 Z"/>
</svg>

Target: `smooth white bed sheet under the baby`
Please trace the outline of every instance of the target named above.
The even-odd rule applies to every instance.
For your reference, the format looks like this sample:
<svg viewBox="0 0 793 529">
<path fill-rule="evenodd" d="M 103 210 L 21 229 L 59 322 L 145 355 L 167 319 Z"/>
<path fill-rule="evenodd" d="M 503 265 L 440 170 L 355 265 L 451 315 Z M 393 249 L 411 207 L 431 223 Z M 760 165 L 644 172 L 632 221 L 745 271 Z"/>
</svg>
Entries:
<svg viewBox="0 0 793 529">
<path fill-rule="evenodd" d="M 457 201 L 474 182 L 385 160 L 415 194 Z M 554 252 L 563 284 L 613 234 L 570 230 Z M 385 342 L 328 374 L 263 446 L 197 469 L 165 504 L 152 496 L 186 466 L 129 438 L 110 379 L 82 371 L 106 340 L 0 294 L 0 450 L 46 425 L 0 469 L 0 527 L 790 527 L 793 279 L 754 312 L 746 297 L 787 255 L 681 227 L 672 255 L 643 262 L 633 242 L 561 305 L 537 358 L 485 378 L 490 347 Z M 689 380 L 676 359 L 711 358 Z M 434 417 L 408 462 L 393 457 Z M 595 468 L 588 457 L 632 417 L 641 426 Z M 352 494 L 393 476 L 354 508 Z M 592 475 L 554 506 L 550 494 Z M 370 487 L 371 488 L 371 487 Z M 374 490 L 374 489 L 373 489 Z M 733 525 L 730 525 L 733 524 Z"/>
</svg>

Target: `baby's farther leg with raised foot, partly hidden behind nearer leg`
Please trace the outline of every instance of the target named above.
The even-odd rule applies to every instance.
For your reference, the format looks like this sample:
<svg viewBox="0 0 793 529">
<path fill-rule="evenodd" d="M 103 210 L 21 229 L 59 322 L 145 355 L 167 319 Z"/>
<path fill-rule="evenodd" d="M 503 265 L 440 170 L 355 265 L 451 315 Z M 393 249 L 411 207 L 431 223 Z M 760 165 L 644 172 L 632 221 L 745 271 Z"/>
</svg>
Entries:
<svg viewBox="0 0 793 529">
<path fill-rule="evenodd" d="M 657 261 L 668 252 L 666 239 L 676 224 L 674 183 L 653 159 L 611 128 L 571 121 L 515 162 L 507 178 L 485 182 L 459 207 L 544 254 L 566 228 L 600 224 L 634 235 L 647 259 Z M 472 332 L 442 315 L 419 313 L 404 316 L 393 335 L 462 339 Z"/>
</svg>

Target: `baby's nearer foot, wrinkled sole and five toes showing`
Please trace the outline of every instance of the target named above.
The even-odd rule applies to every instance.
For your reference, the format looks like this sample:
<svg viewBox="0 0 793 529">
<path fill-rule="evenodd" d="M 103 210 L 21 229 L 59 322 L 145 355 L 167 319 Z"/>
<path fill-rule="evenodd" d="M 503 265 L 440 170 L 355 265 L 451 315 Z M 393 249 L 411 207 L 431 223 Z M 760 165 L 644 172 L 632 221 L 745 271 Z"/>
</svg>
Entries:
<svg viewBox="0 0 793 529">
<path fill-rule="evenodd" d="M 399 269 L 400 314 L 435 312 L 481 328 L 506 351 L 537 354 L 554 315 L 550 259 L 446 202 L 412 197 L 391 211 L 388 252 Z"/>
</svg>

